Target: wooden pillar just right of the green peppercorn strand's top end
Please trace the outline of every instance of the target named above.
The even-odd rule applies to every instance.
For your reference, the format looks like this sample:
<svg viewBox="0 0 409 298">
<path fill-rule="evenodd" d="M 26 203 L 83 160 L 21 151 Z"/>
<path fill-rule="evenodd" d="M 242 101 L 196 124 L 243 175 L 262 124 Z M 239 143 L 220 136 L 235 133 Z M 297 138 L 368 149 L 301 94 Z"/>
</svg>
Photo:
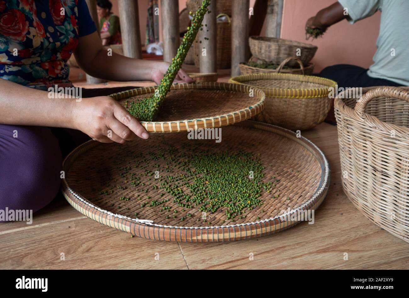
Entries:
<svg viewBox="0 0 409 298">
<path fill-rule="evenodd" d="M 199 40 L 202 41 L 199 51 L 201 73 L 217 72 L 216 1 L 217 0 L 211 0 L 211 4 L 209 5 L 209 11 L 211 11 L 211 13 L 206 13 L 202 23 L 203 30 L 199 30 Z M 205 24 L 207 24 L 207 26 L 205 26 Z M 205 37 L 209 39 L 207 40 Z M 203 48 L 206 50 L 205 52 Z M 205 56 L 203 56 L 204 53 L 206 53 Z"/>
</svg>

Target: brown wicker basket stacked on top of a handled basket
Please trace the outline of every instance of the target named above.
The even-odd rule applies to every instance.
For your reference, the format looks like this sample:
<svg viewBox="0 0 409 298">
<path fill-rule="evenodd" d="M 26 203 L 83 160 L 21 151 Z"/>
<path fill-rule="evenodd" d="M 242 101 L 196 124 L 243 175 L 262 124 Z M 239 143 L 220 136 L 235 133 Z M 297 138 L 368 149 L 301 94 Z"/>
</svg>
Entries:
<svg viewBox="0 0 409 298">
<path fill-rule="evenodd" d="M 263 36 L 250 36 L 249 45 L 254 57 L 275 64 L 280 64 L 287 57 L 296 56 L 300 49 L 301 56 L 297 58 L 308 65 L 318 49 L 317 46 L 304 42 Z M 296 66 L 297 62 L 290 61 L 288 65 Z"/>
</svg>

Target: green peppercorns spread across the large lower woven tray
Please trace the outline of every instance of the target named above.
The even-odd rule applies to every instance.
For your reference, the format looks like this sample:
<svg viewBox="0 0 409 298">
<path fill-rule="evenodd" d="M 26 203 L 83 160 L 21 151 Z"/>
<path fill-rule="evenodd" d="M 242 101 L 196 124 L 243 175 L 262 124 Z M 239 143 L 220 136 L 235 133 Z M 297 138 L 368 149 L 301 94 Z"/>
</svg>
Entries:
<svg viewBox="0 0 409 298">
<path fill-rule="evenodd" d="M 264 182 L 265 167 L 260 158 L 243 150 L 215 152 L 199 144 L 161 142 L 147 153 L 128 153 L 133 161 L 125 167 L 118 159 L 117 168 L 124 180 L 111 189 L 131 189 L 133 195 L 120 197 L 111 207 L 126 208 L 139 201 L 140 207 L 155 208 L 164 219 L 184 221 L 195 217 L 206 225 L 211 224 L 211 214 L 224 211 L 222 222 L 233 224 L 246 218 L 246 211 L 262 206 L 261 196 L 270 193 L 279 182 L 275 176 Z M 148 191 L 151 196 L 154 193 L 154 198 L 144 195 Z M 109 189 L 100 190 L 102 195 L 111 193 Z M 270 196 L 278 198 L 279 194 Z M 203 212 L 206 219 L 202 218 Z"/>
</svg>

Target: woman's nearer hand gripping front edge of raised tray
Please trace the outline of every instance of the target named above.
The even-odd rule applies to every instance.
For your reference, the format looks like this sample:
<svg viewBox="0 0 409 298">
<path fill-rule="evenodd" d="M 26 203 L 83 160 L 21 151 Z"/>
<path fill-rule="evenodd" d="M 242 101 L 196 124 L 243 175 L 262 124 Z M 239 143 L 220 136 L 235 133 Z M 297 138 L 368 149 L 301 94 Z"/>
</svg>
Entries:
<svg viewBox="0 0 409 298">
<path fill-rule="evenodd" d="M 109 96 L 83 98 L 72 105 L 74 127 L 93 140 L 123 144 L 136 136 L 143 139 L 149 137 L 136 118 Z"/>
</svg>

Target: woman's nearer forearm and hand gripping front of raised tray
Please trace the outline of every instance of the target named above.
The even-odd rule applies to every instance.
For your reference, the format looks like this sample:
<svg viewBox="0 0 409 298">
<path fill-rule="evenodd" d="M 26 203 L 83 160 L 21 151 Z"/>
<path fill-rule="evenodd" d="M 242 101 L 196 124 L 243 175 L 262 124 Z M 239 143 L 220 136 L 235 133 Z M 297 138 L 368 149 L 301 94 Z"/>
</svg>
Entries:
<svg viewBox="0 0 409 298">
<path fill-rule="evenodd" d="M 144 127 L 113 98 L 50 98 L 48 91 L 4 79 L 0 79 L 0 123 L 79 129 L 107 143 L 148 138 Z"/>
</svg>

